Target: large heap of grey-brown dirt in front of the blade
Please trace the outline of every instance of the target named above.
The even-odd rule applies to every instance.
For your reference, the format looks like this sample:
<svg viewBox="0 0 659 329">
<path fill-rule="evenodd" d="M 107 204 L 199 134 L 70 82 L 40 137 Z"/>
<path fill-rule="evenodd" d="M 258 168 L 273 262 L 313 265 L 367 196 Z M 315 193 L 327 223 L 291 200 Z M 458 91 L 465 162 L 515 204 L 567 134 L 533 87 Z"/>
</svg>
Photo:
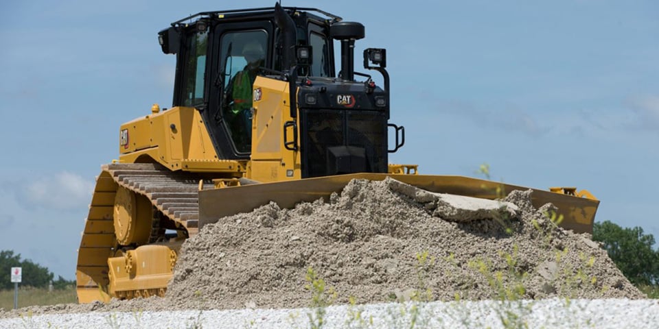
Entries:
<svg viewBox="0 0 659 329">
<path fill-rule="evenodd" d="M 167 304 L 308 306 L 309 267 L 338 303 L 415 291 L 432 300 L 645 297 L 588 234 L 556 228 L 544 215 L 551 205 L 533 208 L 530 193 L 461 212 L 468 207 L 395 180 L 354 180 L 329 203 L 225 217 L 184 243 Z"/>
</svg>

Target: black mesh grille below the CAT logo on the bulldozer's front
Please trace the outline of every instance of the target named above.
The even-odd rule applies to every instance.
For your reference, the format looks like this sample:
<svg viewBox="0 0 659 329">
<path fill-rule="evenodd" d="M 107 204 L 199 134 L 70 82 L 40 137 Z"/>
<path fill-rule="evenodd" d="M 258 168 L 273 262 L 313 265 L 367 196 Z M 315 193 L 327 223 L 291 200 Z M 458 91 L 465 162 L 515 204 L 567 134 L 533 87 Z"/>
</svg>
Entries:
<svg viewBox="0 0 659 329">
<path fill-rule="evenodd" d="M 339 146 L 363 148 L 366 170 L 386 172 L 386 119 L 382 112 L 306 110 L 301 121 L 303 177 L 334 175 L 328 169 L 329 148 Z"/>
</svg>

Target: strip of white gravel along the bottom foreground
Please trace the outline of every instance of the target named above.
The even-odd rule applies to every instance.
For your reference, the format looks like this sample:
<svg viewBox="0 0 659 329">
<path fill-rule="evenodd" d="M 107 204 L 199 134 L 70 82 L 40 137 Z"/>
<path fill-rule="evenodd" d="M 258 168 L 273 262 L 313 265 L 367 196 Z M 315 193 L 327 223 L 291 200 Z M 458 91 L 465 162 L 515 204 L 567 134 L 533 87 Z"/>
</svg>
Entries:
<svg viewBox="0 0 659 329">
<path fill-rule="evenodd" d="M 658 300 L 408 302 L 329 306 L 325 312 L 323 328 L 411 328 L 412 321 L 414 328 L 505 328 L 505 319 L 528 328 L 659 328 Z M 23 314 L 0 319 L 0 327 L 310 328 L 315 314 L 310 308 Z"/>
</svg>

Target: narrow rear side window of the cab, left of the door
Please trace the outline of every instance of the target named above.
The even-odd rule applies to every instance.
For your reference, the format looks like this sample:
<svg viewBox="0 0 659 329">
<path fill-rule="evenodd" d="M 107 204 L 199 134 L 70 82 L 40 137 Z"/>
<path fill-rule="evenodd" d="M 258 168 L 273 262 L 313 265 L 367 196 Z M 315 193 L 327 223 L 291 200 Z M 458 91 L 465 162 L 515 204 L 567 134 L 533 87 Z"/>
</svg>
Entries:
<svg viewBox="0 0 659 329">
<path fill-rule="evenodd" d="M 183 71 L 183 106 L 194 107 L 204 102 L 208 32 L 196 33 L 188 40 L 189 53 Z"/>
</svg>

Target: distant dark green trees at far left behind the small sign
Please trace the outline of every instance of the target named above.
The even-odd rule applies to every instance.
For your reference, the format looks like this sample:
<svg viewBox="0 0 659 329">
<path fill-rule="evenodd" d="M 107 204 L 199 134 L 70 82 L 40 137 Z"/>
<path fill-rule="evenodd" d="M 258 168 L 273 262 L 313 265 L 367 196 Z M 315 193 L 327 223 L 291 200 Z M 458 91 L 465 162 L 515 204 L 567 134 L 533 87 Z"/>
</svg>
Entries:
<svg viewBox="0 0 659 329">
<path fill-rule="evenodd" d="M 21 267 L 21 286 L 36 288 L 47 288 L 52 282 L 54 289 L 65 289 L 74 284 L 73 280 L 66 280 L 62 276 L 54 279 L 54 274 L 46 267 L 32 263 L 31 260 L 21 260 L 21 254 L 15 254 L 12 250 L 0 252 L 0 289 L 14 289 L 11 282 L 12 267 Z"/>
</svg>

